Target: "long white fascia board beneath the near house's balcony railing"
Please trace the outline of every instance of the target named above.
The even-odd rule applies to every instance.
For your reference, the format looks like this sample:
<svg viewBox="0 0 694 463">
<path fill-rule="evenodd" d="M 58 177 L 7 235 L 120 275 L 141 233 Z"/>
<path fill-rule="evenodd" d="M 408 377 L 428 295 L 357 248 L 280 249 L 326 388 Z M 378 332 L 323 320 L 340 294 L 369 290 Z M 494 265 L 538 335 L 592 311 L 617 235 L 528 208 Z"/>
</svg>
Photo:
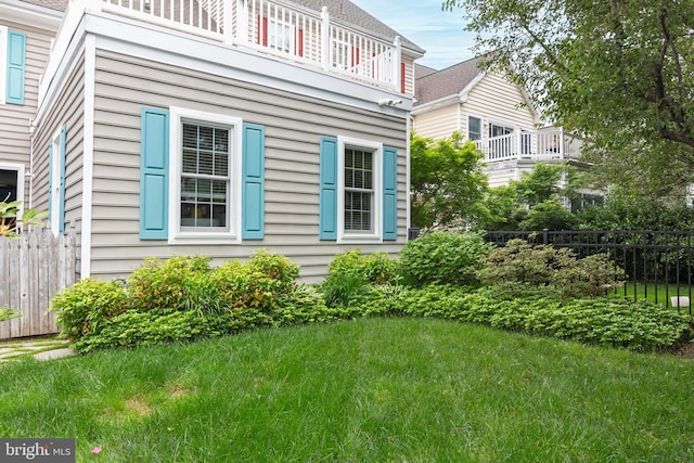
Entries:
<svg viewBox="0 0 694 463">
<path fill-rule="evenodd" d="M 371 87 L 319 68 L 292 64 L 209 39 L 193 38 L 156 25 L 87 13 L 85 33 L 97 36 L 98 49 L 401 118 L 409 117 L 412 108 L 412 99 L 394 90 Z M 402 100 L 402 103 L 378 106 L 378 101 L 384 99 Z"/>
</svg>

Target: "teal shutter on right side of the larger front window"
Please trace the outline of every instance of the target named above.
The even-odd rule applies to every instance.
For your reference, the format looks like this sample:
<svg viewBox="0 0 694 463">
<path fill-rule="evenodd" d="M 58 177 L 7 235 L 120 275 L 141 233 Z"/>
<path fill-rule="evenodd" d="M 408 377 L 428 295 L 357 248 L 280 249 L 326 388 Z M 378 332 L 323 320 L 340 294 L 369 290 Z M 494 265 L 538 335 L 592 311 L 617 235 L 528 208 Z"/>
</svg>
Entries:
<svg viewBox="0 0 694 463">
<path fill-rule="evenodd" d="M 242 159 L 242 234 L 243 240 L 265 236 L 265 127 L 243 125 Z"/>
</svg>

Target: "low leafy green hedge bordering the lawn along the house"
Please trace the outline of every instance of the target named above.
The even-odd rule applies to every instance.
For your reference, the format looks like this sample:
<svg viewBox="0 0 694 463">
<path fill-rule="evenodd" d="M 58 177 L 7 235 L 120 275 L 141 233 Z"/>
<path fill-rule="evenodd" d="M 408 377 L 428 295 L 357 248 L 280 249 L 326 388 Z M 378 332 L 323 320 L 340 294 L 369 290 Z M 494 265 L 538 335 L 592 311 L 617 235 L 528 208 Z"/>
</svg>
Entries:
<svg viewBox="0 0 694 463">
<path fill-rule="evenodd" d="M 481 247 L 476 249 L 474 254 L 484 254 Z M 547 263 L 548 253 L 539 249 L 542 258 L 536 263 Z M 561 257 L 576 268 L 573 257 Z M 601 259 L 587 262 L 589 269 L 606 265 Z M 82 352 L 368 316 L 442 318 L 632 350 L 663 349 L 690 335 L 689 314 L 645 300 L 567 297 L 547 291 L 544 280 L 541 284 L 515 280 L 513 287 L 404 286 L 399 284 L 402 267 L 398 266 L 383 253 L 350 250 L 335 258 L 322 285 L 306 285 L 296 283 L 294 262 L 267 250 L 254 254 L 248 262 L 230 261 L 216 269 L 197 256 L 149 259 L 125 284 L 91 279 L 76 283 L 55 296 L 52 308 L 63 334 Z M 463 267 L 477 266 L 468 261 Z M 581 271 L 565 272 L 564 278 L 582 279 Z M 552 278 L 547 281 L 561 284 Z"/>
</svg>

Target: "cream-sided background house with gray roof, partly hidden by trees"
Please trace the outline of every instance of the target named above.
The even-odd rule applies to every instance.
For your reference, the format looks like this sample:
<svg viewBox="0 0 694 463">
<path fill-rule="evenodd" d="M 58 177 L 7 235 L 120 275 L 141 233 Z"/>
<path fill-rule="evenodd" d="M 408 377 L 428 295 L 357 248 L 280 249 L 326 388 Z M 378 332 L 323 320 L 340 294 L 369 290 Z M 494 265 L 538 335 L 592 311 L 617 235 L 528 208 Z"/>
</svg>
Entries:
<svg viewBox="0 0 694 463">
<path fill-rule="evenodd" d="M 542 127 L 519 86 L 477 67 L 472 59 L 441 70 L 415 65 L 413 129 L 441 139 L 460 132 L 485 155 L 489 185 L 517 180 L 537 163 L 579 160 L 581 142 L 562 128 Z"/>
</svg>

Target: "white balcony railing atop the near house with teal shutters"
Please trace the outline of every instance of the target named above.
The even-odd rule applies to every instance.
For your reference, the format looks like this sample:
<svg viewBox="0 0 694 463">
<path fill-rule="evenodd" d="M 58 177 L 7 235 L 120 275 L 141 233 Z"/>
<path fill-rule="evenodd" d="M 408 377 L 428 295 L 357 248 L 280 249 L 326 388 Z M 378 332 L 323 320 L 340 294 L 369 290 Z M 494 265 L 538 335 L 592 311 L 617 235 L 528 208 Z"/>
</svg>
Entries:
<svg viewBox="0 0 694 463">
<path fill-rule="evenodd" d="M 400 90 L 400 39 L 388 42 L 337 24 L 325 7 L 319 13 L 282 0 L 70 0 L 39 86 L 40 100 L 87 10 L 158 24 Z"/>
</svg>

